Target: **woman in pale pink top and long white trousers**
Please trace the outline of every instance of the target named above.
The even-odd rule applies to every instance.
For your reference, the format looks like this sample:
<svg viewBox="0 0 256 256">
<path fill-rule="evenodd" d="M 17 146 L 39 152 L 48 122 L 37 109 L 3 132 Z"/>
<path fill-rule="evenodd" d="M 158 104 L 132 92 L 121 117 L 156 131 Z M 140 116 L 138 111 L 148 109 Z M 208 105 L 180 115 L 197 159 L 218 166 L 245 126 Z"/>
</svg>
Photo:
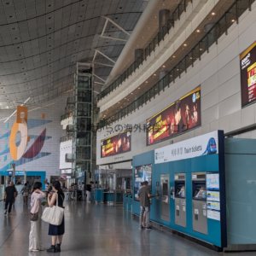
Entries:
<svg viewBox="0 0 256 256">
<path fill-rule="evenodd" d="M 38 252 L 44 251 L 42 247 L 42 236 L 41 236 L 41 215 L 42 215 L 42 207 L 41 207 L 41 198 L 45 197 L 44 192 L 42 190 L 42 183 L 36 182 L 34 183 L 32 195 L 31 195 L 31 213 L 38 212 L 38 220 L 31 221 L 31 229 L 29 234 L 29 251 L 30 252 Z"/>
</svg>

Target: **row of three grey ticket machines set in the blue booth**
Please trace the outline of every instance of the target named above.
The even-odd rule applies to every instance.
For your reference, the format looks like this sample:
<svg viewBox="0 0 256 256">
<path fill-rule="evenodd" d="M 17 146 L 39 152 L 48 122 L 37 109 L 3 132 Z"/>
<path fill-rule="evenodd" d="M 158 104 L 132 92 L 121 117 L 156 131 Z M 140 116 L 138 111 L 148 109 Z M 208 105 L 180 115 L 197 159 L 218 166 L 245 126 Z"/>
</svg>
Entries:
<svg viewBox="0 0 256 256">
<path fill-rule="evenodd" d="M 190 173 L 187 175 L 191 175 Z M 174 187 L 170 191 L 170 174 L 161 174 L 161 219 L 170 221 L 170 200 L 175 200 L 175 224 L 187 226 L 186 173 L 174 174 Z M 192 172 L 193 230 L 207 235 L 207 172 Z M 191 214 L 188 212 L 188 214 Z"/>
</svg>

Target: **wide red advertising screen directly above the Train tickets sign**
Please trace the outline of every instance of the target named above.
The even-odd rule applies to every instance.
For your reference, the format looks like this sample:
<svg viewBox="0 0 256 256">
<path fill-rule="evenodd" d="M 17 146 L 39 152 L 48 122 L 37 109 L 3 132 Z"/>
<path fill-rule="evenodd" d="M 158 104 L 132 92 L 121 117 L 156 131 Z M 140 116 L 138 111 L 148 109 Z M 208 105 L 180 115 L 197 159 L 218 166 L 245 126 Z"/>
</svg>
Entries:
<svg viewBox="0 0 256 256">
<path fill-rule="evenodd" d="M 201 125 L 201 86 L 147 119 L 147 146 Z"/>
</svg>

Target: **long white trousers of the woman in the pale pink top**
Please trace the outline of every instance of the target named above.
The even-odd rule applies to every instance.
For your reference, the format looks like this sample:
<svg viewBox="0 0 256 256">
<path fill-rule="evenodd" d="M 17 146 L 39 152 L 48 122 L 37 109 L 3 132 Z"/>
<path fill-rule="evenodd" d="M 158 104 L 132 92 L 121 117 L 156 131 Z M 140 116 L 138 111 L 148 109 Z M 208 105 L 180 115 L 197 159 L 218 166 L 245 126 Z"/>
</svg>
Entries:
<svg viewBox="0 0 256 256">
<path fill-rule="evenodd" d="M 31 228 L 29 234 L 29 250 L 42 250 L 42 234 L 41 234 L 41 214 L 38 214 L 37 221 L 30 221 Z"/>
</svg>

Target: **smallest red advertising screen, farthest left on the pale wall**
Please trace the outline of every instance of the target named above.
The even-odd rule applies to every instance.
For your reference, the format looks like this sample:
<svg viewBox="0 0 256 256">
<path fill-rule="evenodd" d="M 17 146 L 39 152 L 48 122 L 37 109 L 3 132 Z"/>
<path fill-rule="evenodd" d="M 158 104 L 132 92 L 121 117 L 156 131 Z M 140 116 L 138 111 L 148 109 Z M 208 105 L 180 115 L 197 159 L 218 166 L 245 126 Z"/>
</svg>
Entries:
<svg viewBox="0 0 256 256">
<path fill-rule="evenodd" d="M 122 131 L 101 141 L 101 157 L 131 151 L 131 130 Z"/>
</svg>

